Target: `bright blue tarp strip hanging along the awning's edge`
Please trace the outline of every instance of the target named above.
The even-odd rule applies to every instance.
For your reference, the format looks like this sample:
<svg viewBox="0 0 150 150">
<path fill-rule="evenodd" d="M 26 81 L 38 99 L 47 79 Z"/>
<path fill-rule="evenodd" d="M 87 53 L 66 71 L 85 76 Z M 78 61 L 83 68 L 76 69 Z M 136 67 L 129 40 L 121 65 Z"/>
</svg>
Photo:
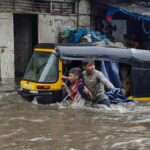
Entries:
<svg viewBox="0 0 150 150">
<path fill-rule="evenodd" d="M 119 7 L 109 7 L 108 10 L 107 10 L 107 16 L 113 16 L 118 12 L 121 12 L 123 14 L 129 15 L 129 16 L 132 16 L 132 17 L 136 17 L 136 18 L 141 19 L 141 20 L 150 21 L 150 17 L 148 17 L 148 16 L 143 16 L 143 15 L 137 14 L 135 12 L 130 12 L 126 9 L 119 8 Z"/>
</svg>

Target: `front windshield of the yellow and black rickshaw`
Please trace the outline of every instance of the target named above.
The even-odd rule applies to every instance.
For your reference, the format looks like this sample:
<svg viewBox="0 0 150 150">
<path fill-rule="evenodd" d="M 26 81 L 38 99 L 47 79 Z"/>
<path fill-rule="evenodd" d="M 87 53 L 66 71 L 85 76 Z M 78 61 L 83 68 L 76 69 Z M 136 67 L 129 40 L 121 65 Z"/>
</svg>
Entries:
<svg viewBox="0 0 150 150">
<path fill-rule="evenodd" d="M 53 53 L 34 52 L 23 77 L 36 82 L 56 82 L 58 79 L 58 62 Z"/>
</svg>

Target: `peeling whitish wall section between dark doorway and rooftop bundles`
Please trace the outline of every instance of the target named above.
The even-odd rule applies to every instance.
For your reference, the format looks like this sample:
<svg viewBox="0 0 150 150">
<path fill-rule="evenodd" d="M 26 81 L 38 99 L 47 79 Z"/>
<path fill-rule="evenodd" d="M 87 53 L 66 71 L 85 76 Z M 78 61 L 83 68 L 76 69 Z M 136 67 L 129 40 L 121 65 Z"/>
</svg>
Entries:
<svg viewBox="0 0 150 150">
<path fill-rule="evenodd" d="M 55 43 L 65 26 L 76 27 L 76 17 L 39 15 L 39 42 Z"/>
</svg>

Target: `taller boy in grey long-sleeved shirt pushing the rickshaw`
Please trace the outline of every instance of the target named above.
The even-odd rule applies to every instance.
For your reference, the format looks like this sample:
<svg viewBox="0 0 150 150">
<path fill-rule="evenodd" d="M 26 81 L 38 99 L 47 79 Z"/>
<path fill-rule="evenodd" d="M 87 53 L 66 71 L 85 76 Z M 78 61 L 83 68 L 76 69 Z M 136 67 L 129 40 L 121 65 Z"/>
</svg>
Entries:
<svg viewBox="0 0 150 150">
<path fill-rule="evenodd" d="M 93 95 L 91 100 L 93 103 L 104 104 L 110 106 L 108 96 L 105 94 L 104 87 L 106 86 L 109 90 L 114 89 L 114 86 L 109 82 L 102 72 L 95 69 L 95 63 L 93 60 L 83 61 L 82 63 L 83 81 L 87 88 Z"/>
</svg>

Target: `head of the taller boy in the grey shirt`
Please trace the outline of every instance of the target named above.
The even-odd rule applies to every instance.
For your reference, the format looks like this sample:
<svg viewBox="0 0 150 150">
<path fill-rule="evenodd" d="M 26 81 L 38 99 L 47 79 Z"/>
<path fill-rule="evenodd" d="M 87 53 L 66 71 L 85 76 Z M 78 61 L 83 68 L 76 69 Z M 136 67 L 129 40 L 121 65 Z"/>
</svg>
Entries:
<svg viewBox="0 0 150 150">
<path fill-rule="evenodd" d="M 92 60 L 92 59 L 84 60 L 82 62 L 82 66 L 83 66 L 84 70 L 89 74 L 93 73 L 93 71 L 95 70 L 95 63 L 94 63 L 94 60 Z"/>
</svg>

